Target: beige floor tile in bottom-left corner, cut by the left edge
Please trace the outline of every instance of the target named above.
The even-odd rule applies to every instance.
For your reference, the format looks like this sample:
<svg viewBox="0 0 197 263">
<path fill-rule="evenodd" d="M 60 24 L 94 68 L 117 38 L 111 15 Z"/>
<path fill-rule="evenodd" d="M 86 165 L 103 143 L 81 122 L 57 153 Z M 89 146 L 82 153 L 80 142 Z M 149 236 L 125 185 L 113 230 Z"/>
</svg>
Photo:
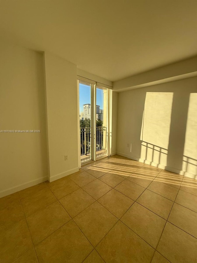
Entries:
<svg viewBox="0 0 197 263">
<path fill-rule="evenodd" d="M 2 263 L 13 262 L 33 248 L 25 219 L 0 232 L 0 248 Z"/>
</svg>

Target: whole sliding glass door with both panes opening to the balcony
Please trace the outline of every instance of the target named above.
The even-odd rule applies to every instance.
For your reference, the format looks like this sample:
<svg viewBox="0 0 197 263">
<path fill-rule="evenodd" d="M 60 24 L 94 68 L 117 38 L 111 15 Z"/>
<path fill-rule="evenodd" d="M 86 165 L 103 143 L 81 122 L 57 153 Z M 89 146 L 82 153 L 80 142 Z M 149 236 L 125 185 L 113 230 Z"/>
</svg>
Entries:
<svg viewBox="0 0 197 263">
<path fill-rule="evenodd" d="M 108 91 L 79 80 L 81 163 L 107 155 Z"/>
</svg>

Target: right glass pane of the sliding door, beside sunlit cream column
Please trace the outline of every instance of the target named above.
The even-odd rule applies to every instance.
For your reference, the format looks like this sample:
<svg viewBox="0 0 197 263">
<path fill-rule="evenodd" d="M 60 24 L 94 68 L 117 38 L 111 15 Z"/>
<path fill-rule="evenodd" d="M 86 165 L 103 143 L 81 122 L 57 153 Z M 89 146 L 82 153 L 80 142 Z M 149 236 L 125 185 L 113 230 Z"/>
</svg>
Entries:
<svg viewBox="0 0 197 263">
<path fill-rule="evenodd" d="M 96 158 L 107 154 L 107 88 L 96 88 Z"/>
</svg>

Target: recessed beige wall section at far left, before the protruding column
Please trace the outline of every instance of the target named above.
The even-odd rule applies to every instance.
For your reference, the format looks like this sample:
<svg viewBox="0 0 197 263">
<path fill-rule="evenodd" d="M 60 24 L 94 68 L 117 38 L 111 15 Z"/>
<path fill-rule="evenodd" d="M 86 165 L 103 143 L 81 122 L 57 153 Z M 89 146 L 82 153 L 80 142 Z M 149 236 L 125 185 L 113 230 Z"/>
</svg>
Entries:
<svg viewBox="0 0 197 263">
<path fill-rule="evenodd" d="M 0 197 L 47 180 L 42 53 L 0 41 Z"/>
</svg>

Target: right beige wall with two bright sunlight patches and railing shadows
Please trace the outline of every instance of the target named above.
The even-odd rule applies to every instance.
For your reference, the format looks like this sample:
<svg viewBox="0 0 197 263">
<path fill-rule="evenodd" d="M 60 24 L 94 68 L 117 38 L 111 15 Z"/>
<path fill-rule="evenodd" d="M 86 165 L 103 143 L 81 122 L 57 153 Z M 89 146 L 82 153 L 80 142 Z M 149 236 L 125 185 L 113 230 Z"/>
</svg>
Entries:
<svg viewBox="0 0 197 263">
<path fill-rule="evenodd" d="M 195 178 L 196 94 L 197 77 L 120 92 L 117 153 Z"/>
</svg>

